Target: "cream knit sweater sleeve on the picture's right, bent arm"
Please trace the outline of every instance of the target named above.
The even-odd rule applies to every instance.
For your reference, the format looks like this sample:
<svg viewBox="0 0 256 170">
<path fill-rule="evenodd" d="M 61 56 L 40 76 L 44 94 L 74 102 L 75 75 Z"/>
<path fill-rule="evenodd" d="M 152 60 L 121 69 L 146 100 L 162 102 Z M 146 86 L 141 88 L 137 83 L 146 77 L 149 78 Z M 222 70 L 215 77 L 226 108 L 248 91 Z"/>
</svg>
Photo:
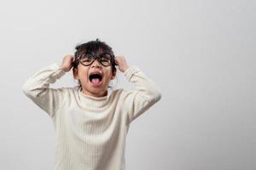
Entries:
<svg viewBox="0 0 256 170">
<path fill-rule="evenodd" d="M 161 99 L 161 92 L 155 82 L 146 77 L 135 65 L 129 67 L 124 75 L 136 87 L 136 90 L 126 91 L 124 97 L 123 107 L 131 123 Z"/>
</svg>

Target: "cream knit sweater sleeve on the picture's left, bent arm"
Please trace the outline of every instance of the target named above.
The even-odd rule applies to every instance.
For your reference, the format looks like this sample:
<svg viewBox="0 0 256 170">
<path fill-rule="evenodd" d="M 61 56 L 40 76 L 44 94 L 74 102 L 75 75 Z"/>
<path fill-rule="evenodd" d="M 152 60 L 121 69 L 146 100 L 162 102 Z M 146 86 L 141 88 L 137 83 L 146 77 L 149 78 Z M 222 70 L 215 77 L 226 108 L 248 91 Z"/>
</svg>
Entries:
<svg viewBox="0 0 256 170">
<path fill-rule="evenodd" d="M 56 82 L 64 74 L 60 65 L 49 65 L 27 79 L 22 87 L 23 93 L 49 116 L 54 116 L 61 107 L 64 89 L 49 88 L 49 84 Z"/>
</svg>

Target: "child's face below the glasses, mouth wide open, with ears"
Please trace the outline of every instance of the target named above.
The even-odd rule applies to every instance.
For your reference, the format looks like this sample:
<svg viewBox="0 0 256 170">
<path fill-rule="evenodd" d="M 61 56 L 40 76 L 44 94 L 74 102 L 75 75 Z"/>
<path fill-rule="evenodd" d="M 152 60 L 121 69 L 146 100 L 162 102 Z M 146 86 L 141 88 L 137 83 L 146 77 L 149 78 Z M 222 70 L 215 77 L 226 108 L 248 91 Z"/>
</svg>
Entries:
<svg viewBox="0 0 256 170">
<path fill-rule="evenodd" d="M 115 71 L 111 65 L 104 66 L 96 59 L 88 66 L 79 63 L 73 76 L 80 81 L 84 94 L 102 97 L 107 95 L 108 84 L 115 77 Z"/>
</svg>

